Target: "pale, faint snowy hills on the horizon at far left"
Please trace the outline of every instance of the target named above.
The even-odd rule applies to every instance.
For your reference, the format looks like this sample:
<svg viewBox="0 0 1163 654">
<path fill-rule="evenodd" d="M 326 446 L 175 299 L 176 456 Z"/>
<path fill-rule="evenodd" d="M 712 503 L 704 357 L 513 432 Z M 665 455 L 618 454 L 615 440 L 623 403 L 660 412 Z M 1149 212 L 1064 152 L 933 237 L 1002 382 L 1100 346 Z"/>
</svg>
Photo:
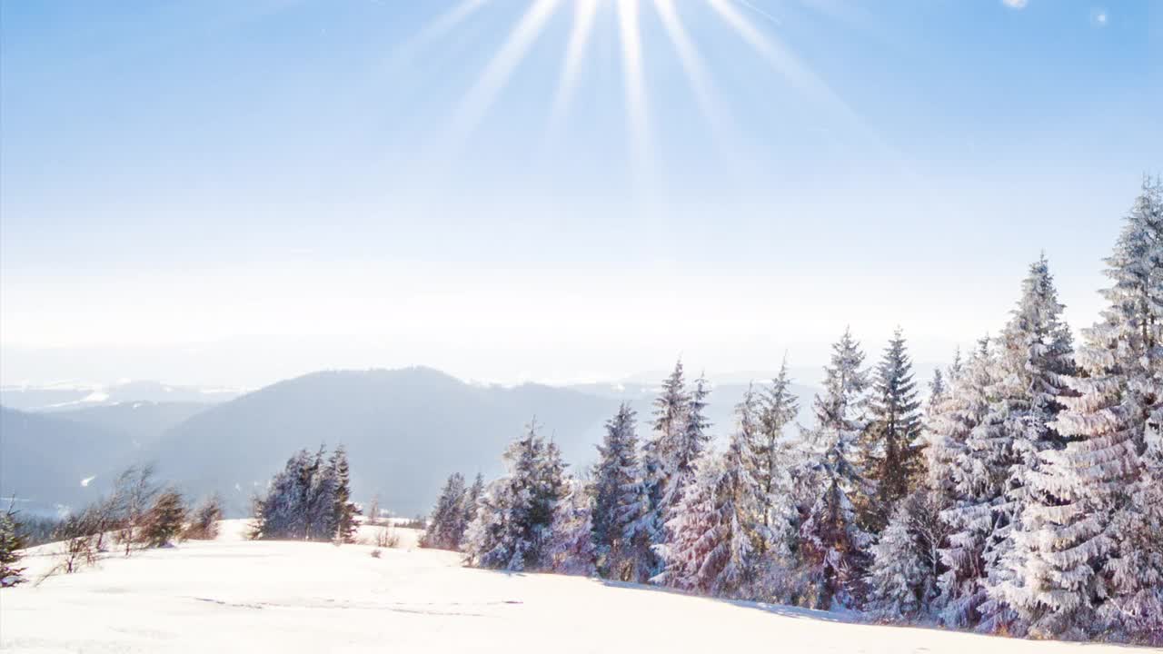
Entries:
<svg viewBox="0 0 1163 654">
<path fill-rule="evenodd" d="M 116 384 L 9 385 L 0 388 L 0 405 L 21 411 L 69 411 L 84 406 L 109 406 L 135 401 L 159 404 L 227 401 L 242 394 L 235 389 L 180 386 L 162 382 Z"/>
</svg>

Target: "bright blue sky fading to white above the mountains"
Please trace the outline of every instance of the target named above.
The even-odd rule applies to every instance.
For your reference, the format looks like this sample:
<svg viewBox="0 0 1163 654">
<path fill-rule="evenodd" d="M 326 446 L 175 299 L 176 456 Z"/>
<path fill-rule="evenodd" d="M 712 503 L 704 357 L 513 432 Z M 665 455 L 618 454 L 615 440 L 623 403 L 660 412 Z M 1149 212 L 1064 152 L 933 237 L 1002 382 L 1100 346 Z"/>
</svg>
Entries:
<svg viewBox="0 0 1163 654">
<path fill-rule="evenodd" d="M 3 383 L 935 363 L 1163 168 L 1151 0 L 0 12 Z"/>
</svg>

